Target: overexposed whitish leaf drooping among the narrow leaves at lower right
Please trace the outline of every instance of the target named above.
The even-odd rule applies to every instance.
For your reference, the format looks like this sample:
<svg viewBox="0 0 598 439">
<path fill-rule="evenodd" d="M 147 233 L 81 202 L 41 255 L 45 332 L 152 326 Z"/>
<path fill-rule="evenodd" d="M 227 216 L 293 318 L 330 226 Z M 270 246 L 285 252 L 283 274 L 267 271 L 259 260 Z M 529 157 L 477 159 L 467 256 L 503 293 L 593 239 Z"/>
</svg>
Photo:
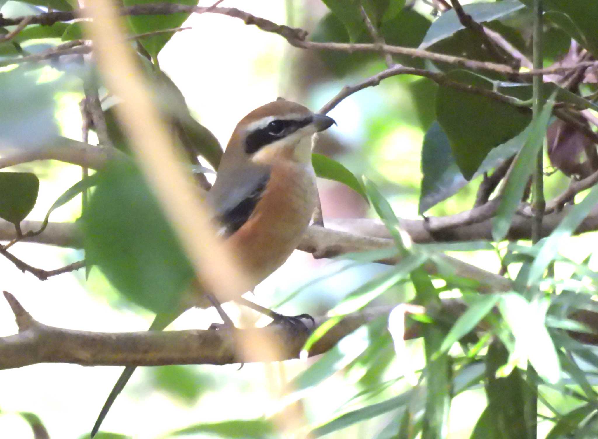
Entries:
<svg viewBox="0 0 598 439">
<path fill-rule="evenodd" d="M 538 375 L 548 383 L 560 380 L 560 363 L 553 340 L 545 326 L 549 299 L 531 303 L 517 293 L 501 295 L 498 307 L 515 337 L 514 357 L 529 360 Z"/>
</svg>

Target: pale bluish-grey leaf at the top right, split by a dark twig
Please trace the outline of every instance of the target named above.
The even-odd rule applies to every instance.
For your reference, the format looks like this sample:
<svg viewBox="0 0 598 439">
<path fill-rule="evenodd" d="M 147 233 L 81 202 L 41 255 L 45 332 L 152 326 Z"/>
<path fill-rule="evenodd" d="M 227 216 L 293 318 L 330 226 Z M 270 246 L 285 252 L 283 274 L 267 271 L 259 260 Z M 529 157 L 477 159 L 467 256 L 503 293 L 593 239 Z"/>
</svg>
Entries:
<svg viewBox="0 0 598 439">
<path fill-rule="evenodd" d="M 493 3 L 479 2 L 463 5 L 463 10 L 477 23 L 500 19 L 522 8 L 524 8 L 524 5 L 517 0 L 503 0 Z M 465 27 L 459 22 L 454 10 L 446 11 L 432 23 L 432 26 L 430 26 L 428 33 L 426 33 L 423 39 L 421 48 L 429 47 L 441 39 L 449 38 L 449 36 L 461 29 L 465 29 Z"/>
</svg>

